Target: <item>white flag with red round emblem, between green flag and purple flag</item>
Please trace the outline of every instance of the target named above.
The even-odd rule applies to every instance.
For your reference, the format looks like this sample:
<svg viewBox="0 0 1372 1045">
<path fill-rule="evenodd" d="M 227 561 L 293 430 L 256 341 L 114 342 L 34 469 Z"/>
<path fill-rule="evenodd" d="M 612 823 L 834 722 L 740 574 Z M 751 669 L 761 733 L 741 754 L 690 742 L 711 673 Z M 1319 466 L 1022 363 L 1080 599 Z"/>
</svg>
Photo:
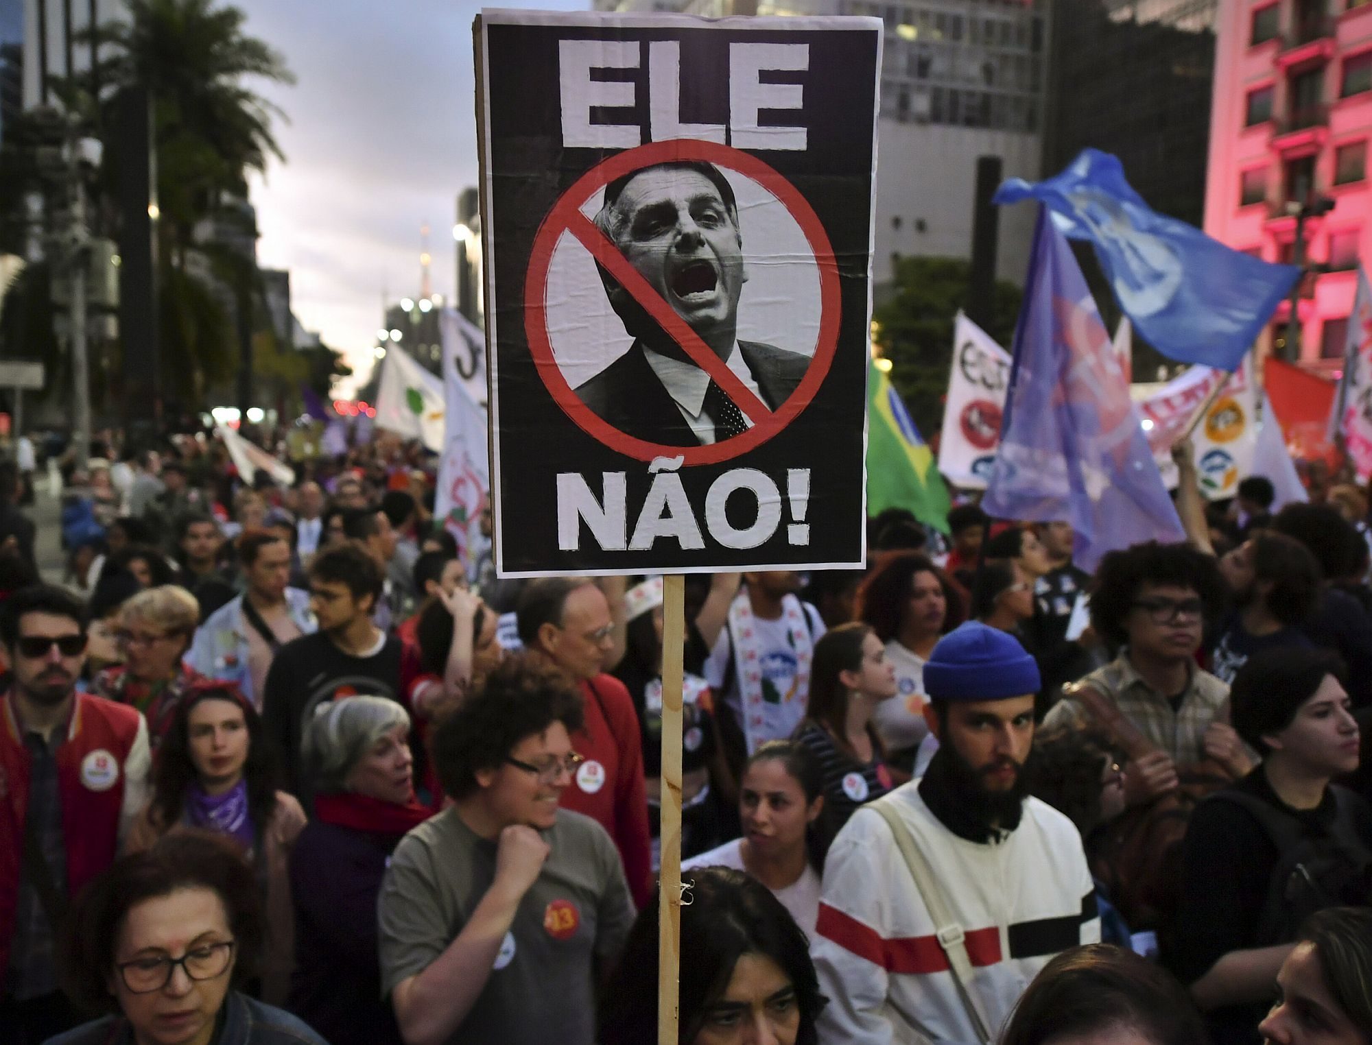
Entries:
<svg viewBox="0 0 1372 1045">
<path fill-rule="evenodd" d="M 1000 443 L 1010 352 L 962 313 L 954 326 L 952 373 L 938 439 L 938 470 L 954 485 L 985 490 Z"/>
</svg>

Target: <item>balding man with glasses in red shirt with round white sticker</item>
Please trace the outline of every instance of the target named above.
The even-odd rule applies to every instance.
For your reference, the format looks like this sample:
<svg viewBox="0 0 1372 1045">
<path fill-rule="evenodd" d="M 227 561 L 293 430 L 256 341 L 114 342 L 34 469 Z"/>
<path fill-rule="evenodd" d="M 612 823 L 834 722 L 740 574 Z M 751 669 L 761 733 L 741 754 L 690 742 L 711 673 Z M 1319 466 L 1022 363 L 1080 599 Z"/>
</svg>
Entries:
<svg viewBox="0 0 1372 1045">
<path fill-rule="evenodd" d="M 524 588 L 516 616 L 524 647 L 552 661 L 582 693 L 584 727 L 573 741 L 586 760 L 563 793 L 563 808 L 609 831 L 642 906 L 653 886 L 643 749 L 628 690 L 605 673 L 616 628 L 609 601 L 584 577 L 545 577 Z"/>
</svg>

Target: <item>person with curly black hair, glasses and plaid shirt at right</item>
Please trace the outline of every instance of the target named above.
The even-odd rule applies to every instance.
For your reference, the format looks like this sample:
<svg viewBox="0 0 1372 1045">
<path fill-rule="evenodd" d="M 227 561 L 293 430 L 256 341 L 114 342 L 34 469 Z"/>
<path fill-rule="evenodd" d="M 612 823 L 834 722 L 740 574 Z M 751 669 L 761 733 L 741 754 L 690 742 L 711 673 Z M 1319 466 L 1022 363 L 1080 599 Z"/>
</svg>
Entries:
<svg viewBox="0 0 1372 1045">
<path fill-rule="evenodd" d="M 1110 553 L 1096 570 L 1091 623 L 1120 656 L 1066 687 L 1044 727 L 1109 728 L 1129 753 L 1129 805 L 1200 778 L 1221 786 L 1253 768 L 1229 725 L 1229 687 L 1195 660 L 1222 591 L 1214 558 L 1190 544 L 1136 544 Z"/>
</svg>

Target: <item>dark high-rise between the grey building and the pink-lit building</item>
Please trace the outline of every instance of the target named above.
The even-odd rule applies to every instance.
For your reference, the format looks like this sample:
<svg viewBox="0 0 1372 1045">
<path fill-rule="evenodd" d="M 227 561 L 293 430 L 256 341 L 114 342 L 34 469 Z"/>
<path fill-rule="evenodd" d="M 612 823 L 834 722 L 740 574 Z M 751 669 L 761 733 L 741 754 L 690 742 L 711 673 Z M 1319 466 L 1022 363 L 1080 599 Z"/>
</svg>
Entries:
<svg viewBox="0 0 1372 1045">
<path fill-rule="evenodd" d="M 1056 0 L 1045 176 L 1111 152 L 1154 210 L 1205 214 L 1217 0 Z"/>
</svg>

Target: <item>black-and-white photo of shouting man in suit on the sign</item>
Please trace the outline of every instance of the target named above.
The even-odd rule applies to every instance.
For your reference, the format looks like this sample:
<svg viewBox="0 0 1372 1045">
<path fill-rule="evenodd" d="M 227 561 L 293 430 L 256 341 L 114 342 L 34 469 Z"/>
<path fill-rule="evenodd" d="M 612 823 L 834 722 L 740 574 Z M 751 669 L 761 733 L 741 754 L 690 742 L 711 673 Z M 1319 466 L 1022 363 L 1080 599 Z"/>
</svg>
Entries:
<svg viewBox="0 0 1372 1045">
<path fill-rule="evenodd" d="M 718 167 L 675 162 L 635 170 L 605 188 L 604 232 L 724 365 L 770 410 L 804 377 L 809 357 L 738 339 L 748 270 L 734 191 Z M 626 435 L 665 446 L 708 446 L 753 425 L 634 296 L 601 269 L 611 306 L 634 339 L 576 395 Z"/>
</svg>

